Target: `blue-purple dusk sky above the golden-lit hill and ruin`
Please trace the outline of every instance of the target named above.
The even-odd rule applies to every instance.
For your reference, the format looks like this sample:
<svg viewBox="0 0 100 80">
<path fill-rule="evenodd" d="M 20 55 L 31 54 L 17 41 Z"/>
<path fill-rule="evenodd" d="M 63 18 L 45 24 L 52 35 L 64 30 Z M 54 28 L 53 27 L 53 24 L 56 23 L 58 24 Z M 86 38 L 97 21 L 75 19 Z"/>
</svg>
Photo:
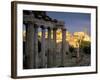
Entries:
<svg viewBox="0 0 100 80">
<path fill-rule="evenodd" d="M 88 13 L 47 12 L 51 18 L 63 20 L 69 32 L 85 31 L 90 35 L 91 15 Z"/>
</svg>

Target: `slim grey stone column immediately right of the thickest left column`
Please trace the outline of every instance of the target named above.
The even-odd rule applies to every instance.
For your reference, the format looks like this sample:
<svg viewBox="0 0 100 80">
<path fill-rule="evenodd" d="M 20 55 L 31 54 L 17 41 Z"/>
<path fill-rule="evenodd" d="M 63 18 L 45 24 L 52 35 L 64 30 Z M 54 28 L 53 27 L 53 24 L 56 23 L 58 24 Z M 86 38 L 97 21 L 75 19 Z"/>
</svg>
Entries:
<svg viewBox="0 0 100 80">
<path fill-rule="evenodd" d="M 34 24 L 34 60 L 35 68 L 39 67 L 39 56 L 38 56 L 38 26 Z"/>
</svg>

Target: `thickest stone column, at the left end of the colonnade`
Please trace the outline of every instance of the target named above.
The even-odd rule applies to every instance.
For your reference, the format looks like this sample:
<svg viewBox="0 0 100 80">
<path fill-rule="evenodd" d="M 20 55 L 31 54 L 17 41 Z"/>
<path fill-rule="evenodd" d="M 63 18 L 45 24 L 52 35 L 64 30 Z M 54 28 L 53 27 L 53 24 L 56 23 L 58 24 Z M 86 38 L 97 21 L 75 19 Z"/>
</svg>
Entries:
<svg viewBox="0 0 100 80">
<path fill-rule="evenodd" d="M 34 26 L 32 23 L 26 25 L 26 41 L 25 41 L 25 52 L 26 52 L 26 68 L 34 68 Z"/>
</svg>

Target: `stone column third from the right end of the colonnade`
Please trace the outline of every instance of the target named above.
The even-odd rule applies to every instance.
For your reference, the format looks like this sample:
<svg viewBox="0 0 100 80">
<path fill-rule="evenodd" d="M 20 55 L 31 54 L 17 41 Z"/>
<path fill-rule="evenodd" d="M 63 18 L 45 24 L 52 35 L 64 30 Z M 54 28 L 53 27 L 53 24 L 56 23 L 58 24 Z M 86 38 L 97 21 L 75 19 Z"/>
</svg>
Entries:
<svg viewBox="0 0 100 80">
<path fill-rule="evenodd" d="M 52 67 L 52 53 L 51 53 L 51 29 L 48 28 L 48 52 L 47 52 L 47 67 Z"/>
</svg>

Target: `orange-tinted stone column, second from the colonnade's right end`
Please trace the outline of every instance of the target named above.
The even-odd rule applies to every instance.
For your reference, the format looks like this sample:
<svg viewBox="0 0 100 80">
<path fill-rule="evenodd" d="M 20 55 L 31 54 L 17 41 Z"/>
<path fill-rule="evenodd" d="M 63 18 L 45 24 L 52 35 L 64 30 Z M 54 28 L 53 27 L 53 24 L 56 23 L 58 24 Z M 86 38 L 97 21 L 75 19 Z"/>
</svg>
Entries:
<svg viewBox="0 0 100 80">
<path fill-rule="evenodd" d="M 56 47 L 57 47 L 57 44 L 56 44 L 56 31 L 57 31 L 57 28 L 54 28 L 53 29 L 53 66 L 56 67 Z"/>
</svg>

